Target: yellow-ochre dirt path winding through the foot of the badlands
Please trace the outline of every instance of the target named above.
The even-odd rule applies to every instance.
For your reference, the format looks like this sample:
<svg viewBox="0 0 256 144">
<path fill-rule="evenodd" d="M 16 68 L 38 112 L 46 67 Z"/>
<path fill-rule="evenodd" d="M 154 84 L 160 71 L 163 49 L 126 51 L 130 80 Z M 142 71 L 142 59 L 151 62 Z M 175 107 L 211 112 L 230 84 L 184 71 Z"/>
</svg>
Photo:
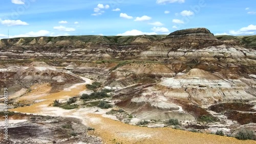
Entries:
<svg viewBox="0 0 256 144">
<path fill-rule="evenodd" d="M 40 89 L 44 90 L 42 87 Z M 70 87 L 70 89 L 43 95 L 38 98 L 38 100 L 44 100 L 43 102 L 28 107 L 11 109 L 11 111 L 80 118 L 83 124 L 95 128 L 95 131 L 90 132 L 90 134 L 102 137 L 105 143 L 256 143 L 253 140 L 242 141 L 232 137 L 193 133 L 171 128 L 152 129 L 132 126 L 103 117 L 102 114 L 106 110 L 99 109 L 99 112 L 95 112 L 97 108 L 64 110 L 49 106 L 56 99 L 72 97 L 83 90 L 85 90 L 84 84 L 77 84 L 76 86 Z M 38 91 L 34 91 L 33 94 L 38 94 Z M 27 99 L 29 98 L 27 97 Z"/>
</svg>

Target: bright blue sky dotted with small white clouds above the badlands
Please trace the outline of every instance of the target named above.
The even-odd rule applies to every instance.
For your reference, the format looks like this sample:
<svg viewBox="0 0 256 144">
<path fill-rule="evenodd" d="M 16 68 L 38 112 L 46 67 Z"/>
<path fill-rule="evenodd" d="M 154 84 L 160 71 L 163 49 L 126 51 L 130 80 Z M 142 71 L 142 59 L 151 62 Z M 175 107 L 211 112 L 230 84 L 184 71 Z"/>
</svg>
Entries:
<svg viewBox="0 0 256 144">
<path fill-rule="evenodd" d="M 155 35 L 207 28 L 255 35 L 255 0 L 1 0 L 0 39 Z"/>
</svg>

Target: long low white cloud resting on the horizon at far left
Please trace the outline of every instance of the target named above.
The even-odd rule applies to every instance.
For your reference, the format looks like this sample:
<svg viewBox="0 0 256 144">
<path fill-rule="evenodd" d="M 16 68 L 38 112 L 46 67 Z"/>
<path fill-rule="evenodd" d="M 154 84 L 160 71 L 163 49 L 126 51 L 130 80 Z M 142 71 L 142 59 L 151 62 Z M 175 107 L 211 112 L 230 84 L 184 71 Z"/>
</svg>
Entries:
<svg viewBox="0 0 256 144">
<path fill-rule="evenodd" d="M 50 32 L 46 31 L 46 30 L 40 30 L 38 32 L 28 32 L 26 34 L 19 34 L 19 35 L 13 35 L 13 36 L 9 36 L 9 38 L 14 38 L 14 37 L 38 37 L 38 36 L 47 36 L 49 35 Z M 0 34 L 0 39 L 1 38 L 8 38 L 7 35 L 4 34 Z"/>
</svg>

